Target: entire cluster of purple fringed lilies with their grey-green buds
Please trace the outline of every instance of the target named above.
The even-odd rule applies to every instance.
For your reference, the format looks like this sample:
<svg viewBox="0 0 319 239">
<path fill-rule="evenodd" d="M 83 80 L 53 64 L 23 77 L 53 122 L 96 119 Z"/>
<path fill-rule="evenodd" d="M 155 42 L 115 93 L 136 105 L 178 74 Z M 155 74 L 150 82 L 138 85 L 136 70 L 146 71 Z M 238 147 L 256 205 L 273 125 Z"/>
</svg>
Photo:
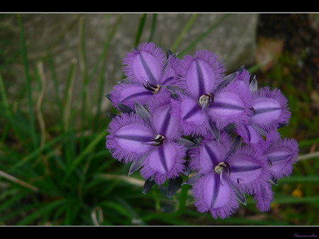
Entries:
<svg viewBox="0 0 319 239">
<path fill-rule="evenodd" d="M 213 52 L 179 59 L 152 42 L 127 53 L 123 73 L 106 95 L 121 112 L 110 115 L 106 148 L 132 163 L 129 175 L 140 170 L 144 193 L 166 180 L 168 197 L 192 185 L 196 209 L 213 218 L 234 214 L 245 194 L 270 209 L 272 185 L 298 156 L 278 132 L 291 117 L 279 89 L 258 88 L 243 66 L 226 75 Z"/>
</svg>

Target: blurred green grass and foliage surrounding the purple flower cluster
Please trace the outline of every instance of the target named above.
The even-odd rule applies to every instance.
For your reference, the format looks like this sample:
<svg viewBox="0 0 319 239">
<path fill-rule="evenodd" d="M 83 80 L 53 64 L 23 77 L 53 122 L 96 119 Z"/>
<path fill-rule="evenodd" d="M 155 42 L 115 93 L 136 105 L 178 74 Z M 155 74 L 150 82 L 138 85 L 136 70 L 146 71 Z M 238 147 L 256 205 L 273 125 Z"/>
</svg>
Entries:
<svg viewBox="0 0 319 239">
<path fill-rule="evenodd" d="M 0 15 L 1 16 L 1 15 Z M 0 141 L 0 225 L 79 225 L 79 226 L 113 226 L 113 225 L 289 225 L 301 223 L 310 225 L 318 223 L 315 211 L 318 211 L 318 157 L 317 161 L 301 161 L 296 165 L 293 176 L 279 181 L 276 187 L 276 200 L 272 209 L 280 210 L 286 216 L 275 213 L 260 213 L 254 208 L 254 201 L 247 199 L 246 216 L 235 214 L 225 220 L 213 220 L 210 215 L 200 214 L 194 209 L 191 197 L 191 187 L 183 185 L 172 198 L 167 198 L 165 186 L 153 187 L 147 194 L 142 194 L 143 180 L 138 173 L 127 176 L 129 165 L 118 163 L 105 148 L 106 127 L 110 119 L 101 113 L 103 100 L 103 72 L 108 59 L 107 52 L 118 25 L 121 24 L 121 14 L 116 23 L 109 29 L 103 45 L 103 51 L 92 69 L 86 67 L 84 18 L 79 19 L 79 61 L 82 72 L 82 91 L 76 99 L 76 105 L 71 104 L 74 86 L 74 61 L 69 62 L 67 88 L 63 98 L 58 92 L 57 72 L 53 63 L 52 52 L 48 46 L 46 56 L 35 66 L 34 74 L 30 71 L 28 62 L 28 46 L 23 32 L 21 16 L 17 15 L 17 28 L 21 37 L 21 50 L 13 52 L 10 59 L 0 65 L 5 69 L 9 61 L 23 59 L 25 72 L 25 88 L 21 98 L 9 103 L 6 92 L 6 79 L 0 72 L 0 123 L 2 125 Z M 198 14 L 193 14 L 181 30 L 172 48 L 178 49 L 187 31 L 191 29 Z M 181 51 L 186 54 L 197 42 L 206 37 L 225 18 L 221 16 L 189 47 Z M 135 44 L 145 30 L 148 14 L 141 14 L 137 24 Z M 107 15 L 106 15 L 107 19 Z M 152 14 L 152 24 L 149 40 L 152 40 L 156 30 L 157 14 Z M 1 52 L 0 52 L 1 53 Z M 75 53 L 74 53 L 75 54 Z M 55 91 L 53 105 L 43 102 L 43 63 L 47 63 L 52 75 Z M 294 64 L 294 63 L 289 63 Z M 282 74 L 279 69 L 274 74 Z M 97 113 L 89 110 L 88 84 L 96 77 L 97 88 L 95 101 Z M 286 77 L 286 76 L 285 76 Z M 280 78 L 280 77 L 279 77 Z M 35 83 L 37 88 L 31 88 Z M 281 82 L 279 81 L 279 84 Z M 308 83 L 311 84 L 311 83 Z M 283 85 L 280 85 L 282 87 Z M 316 126 L 310 124 L 312 119 L 304 119 L 303 114 L 310 115 L 306 109 L 298 105 L 298 98 L 309 100 L 305 93 L 298 93 L 292 84 L 284 84 L 284 90 L 290 91 L 289 102 L 293 111 L 291 132 L 296 133 L 297 125 L 303 125 L 309 131 Z M 25 99 L 26 100 L 23 100 Z M 26 104 L 25 104 L 26 102 Z M 46 105 L 47 104 L 47 105 Z M 77 116 L 79 105 L 82 113 Z M 27 110 L 26 110 L 26 108 Z M 43 108 L 54 107 L 56 117 L 54 123 L 45 115 Z M 89 112 L 89 113 L 88 113 Z M 116 111 L 113 110 L 115 113 Z M 318 122 L 318 117 L 315 118 Z M 291 129 L 292 128 L 292 129 Z M 300 146 L 309 148 L 317 144 L 319 138 L 301 139 Z M 299 185 L 299 186 L 298 186 Z M 300 186 L 301 185 L 301 186 Z M 292 192 L 298 187 L 303 191 L 302 197 L 293 197 Z M 317 191 L 318 192 L 318 191 Z M 296 206 L 297 205 L 297 206 Z M 293 216 L 294 215 L 294 216 Z M 257 217 L 254 217 L 257 216 Z M 259 218 L 258 218 L 259 216 Z M 300 218 L 298 217 L 300 216 Z M 256 219 L 257 218 L 257 219 Z M 293 218 L 293 219 L 291 219 Z"/>
</svg>

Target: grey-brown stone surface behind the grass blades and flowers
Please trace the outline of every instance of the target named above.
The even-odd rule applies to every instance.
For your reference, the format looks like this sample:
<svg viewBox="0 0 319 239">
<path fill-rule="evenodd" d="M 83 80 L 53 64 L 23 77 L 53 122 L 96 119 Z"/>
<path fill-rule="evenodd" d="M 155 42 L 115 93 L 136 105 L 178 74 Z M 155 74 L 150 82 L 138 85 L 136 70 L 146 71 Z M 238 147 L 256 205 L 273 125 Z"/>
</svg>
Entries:
<svg viewBox="0 0 319 239">
<path fill-rule="evenodd" d="M 147 13 L 145 27 L 140 37 L 140 42 L 145 42 L 150 37 L 152 16 Z M 134 47 L 135 35 L 142 13 L 27 13 L 21 14 L 23 30 L 26 37 L 30 74 L 33 76 L 34 88 L 36 64 L 43 61 L 45 72 L 46 94 L 45 100 L 54 103 L 52 74 L 47 62 L 47 47 L 50 47 L 52 59 L 59 83 L 60 97 L 65 95 L 65 87 L 69 67 L 72 60 L 76 60 L 76 74 L 74 78 L 73 99 L 76 99 L 83 86 L 83 64 L 80 50 L 80 33 L 83 24 L 84 52 L 87 74 L 90 75 L 94 65 L 103 52 L 103 45 L 111 28 L 116 23 L 118 16 L 121 21 L 109 45 L 105 65 L 103 93 L 108 93 L 113 85 L 121 80 L 122 60 L 125 53 Z M 194 24 L 184 35 L 174 52 L 181 52 L 205 33 L 211 25 L 218 22 L 224 13 L 198 13 Z M 157 22 L 152 41 L 163 49 L 172 46 L 177 36 L 181 33 L 192 13 L 157 13 Z M 196 49 L 208 49 L 216 52 L 223 59 L 228 71 L 233 71 L 242 64 L 250 65 L 254 62 L 256 49 L 257 13 L 231 13 L 230 16 L 208 33 L 187 54 L 193 54 Z M 7 62 L 6 67 L 0 69 L 4 78 L 7 91 L 12 98 L 17 97 L 23 88 L 26 77 L 22 64 L 19 26 L 16 14 L 3 15 L 0 18 L 0 61 Z M 89 82 L 89 100 L 91 110 L 96 110 L 96 86 L 99 68 Z M 103 110 L 110 107 L 108 100 L 102 100 Z M 54 104 L 52 104 L 54 105 Z"/>
</svg>

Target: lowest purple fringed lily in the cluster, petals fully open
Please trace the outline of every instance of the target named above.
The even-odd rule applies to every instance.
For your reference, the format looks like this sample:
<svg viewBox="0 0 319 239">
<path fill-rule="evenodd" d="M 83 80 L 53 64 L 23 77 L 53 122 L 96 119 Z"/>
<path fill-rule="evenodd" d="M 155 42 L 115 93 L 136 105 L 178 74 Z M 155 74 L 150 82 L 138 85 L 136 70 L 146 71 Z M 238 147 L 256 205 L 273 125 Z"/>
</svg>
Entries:
<svg viewBox="0 0 319 239">
<path fill-rule="evenodd" d="M 194 204 L 200 212 L 210 211 L 213 218 L 230 216 L 239 206 L 237 200 L 245 203 L 245 193 L 258 194 L 259 187 L 269 182 L 269 165 L 261 152 L 233 145 L 222 132 L 219 143 L 211 135 L 204 136 L 199 148 L 190 149 L 190 167 L 198 171 Z"/>
</svg>

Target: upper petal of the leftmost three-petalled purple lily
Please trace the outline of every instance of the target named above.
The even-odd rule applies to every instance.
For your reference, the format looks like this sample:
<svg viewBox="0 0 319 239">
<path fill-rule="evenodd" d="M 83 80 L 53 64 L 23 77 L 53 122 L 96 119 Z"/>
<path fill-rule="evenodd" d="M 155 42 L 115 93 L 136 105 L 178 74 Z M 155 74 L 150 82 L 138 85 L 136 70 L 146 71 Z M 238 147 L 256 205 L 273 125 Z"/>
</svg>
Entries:
<svg viewBox="0 0 319 239">
<path fill-rule="evenodd" d="M 165 97 L 166 96 L 166 97 Z M 181 135 L 179 131 L 179 119 L 171 114 L 171 98 L 169 95 L 157 97 L 147 104 L 150 110 L 151 122 L 157 134 L 165 136 L 165 139 L 174 139 Z"/>
</svg>

